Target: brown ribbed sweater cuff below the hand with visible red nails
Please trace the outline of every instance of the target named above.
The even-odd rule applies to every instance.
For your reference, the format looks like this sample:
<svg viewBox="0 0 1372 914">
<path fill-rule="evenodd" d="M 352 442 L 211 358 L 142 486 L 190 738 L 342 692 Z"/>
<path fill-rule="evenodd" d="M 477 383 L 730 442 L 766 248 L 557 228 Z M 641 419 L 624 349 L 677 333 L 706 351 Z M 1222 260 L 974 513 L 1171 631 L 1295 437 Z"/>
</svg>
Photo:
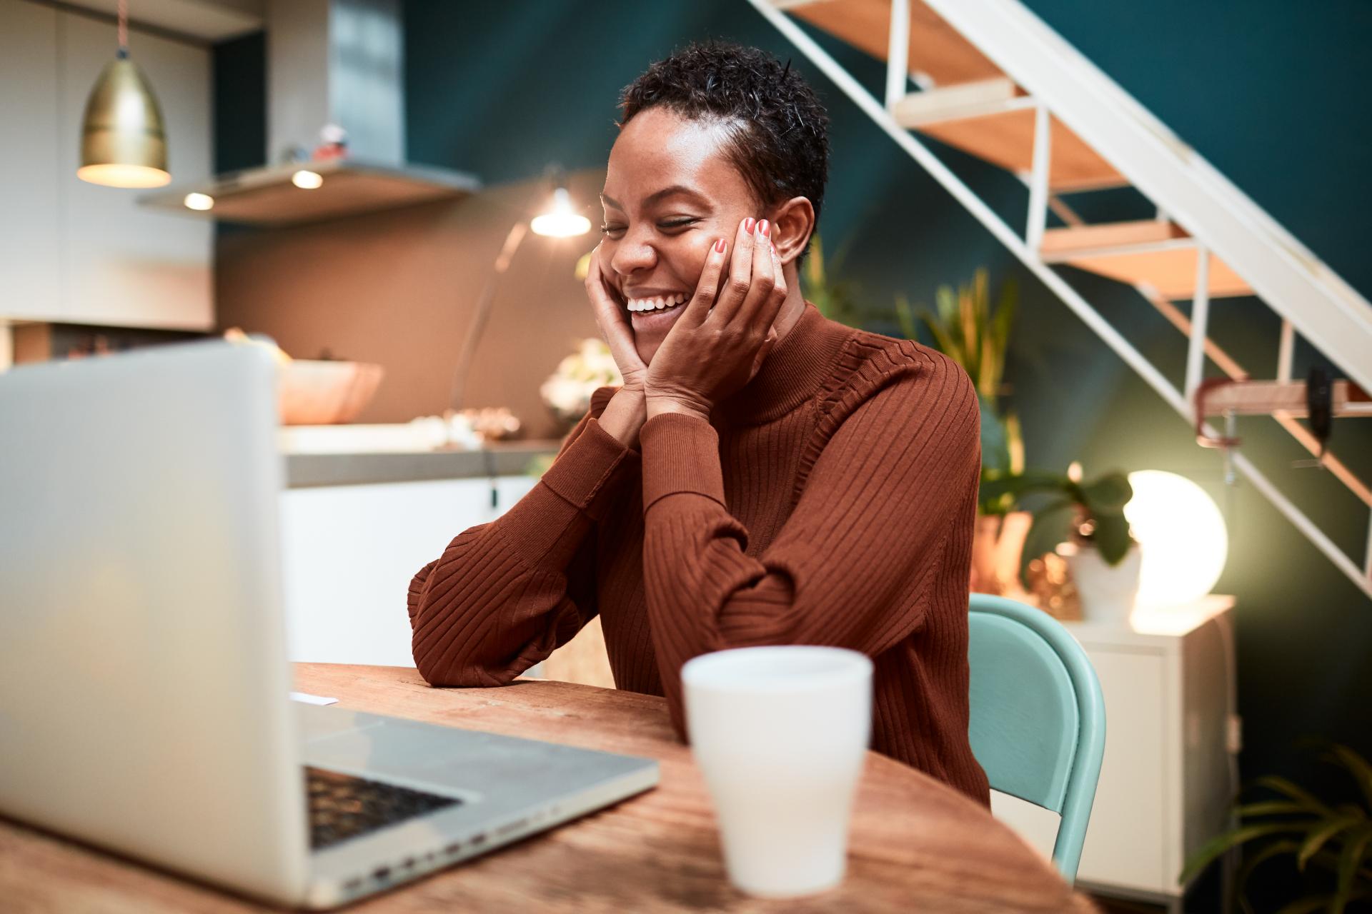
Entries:
<svg viewBox="0 0 1372 914">
<path fill-rule="evenodd" d="M 724 504 L 719 434 L 709 422 L 681 412 L 654 415 L 638 433 L 643 451 L 643 511 L 678 492 L 704 495 Z"/>
</svg>

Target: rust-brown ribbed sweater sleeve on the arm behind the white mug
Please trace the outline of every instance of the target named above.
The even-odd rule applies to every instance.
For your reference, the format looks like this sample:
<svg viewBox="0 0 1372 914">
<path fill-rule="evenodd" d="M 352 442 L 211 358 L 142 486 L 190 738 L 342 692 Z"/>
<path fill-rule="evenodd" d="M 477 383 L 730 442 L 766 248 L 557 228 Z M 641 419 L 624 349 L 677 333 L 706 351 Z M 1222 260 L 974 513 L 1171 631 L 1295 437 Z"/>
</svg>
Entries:
<svg viewBox="0 0 1372 914">
<path fill-rule="evenodd" d="M 977 486 L 975 392 L 963 371 L 932 362 L 853 396 L 756 558 L 726 504 L 715 429 L 681 414 L 642 429 L 648 615 L 683 737 L 681 667 L 691 656 L 761 644 L 875 656 L 923 621 L 943 547 Z M 777 456 L 748 473 L 785 466 Z"/>
</svg>

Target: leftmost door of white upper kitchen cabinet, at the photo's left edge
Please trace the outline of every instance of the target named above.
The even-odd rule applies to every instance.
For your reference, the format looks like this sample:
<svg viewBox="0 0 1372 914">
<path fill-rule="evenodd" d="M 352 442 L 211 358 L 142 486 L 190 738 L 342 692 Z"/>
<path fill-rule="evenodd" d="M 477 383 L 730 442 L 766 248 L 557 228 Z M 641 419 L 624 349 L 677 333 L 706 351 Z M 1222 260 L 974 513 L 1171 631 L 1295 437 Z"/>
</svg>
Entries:
<svg viewBox="0 0 1372 914">
<path fill-rule="evenodd" d="M 58 11 L 0 0 L 0 318 L 54 315 L 58 277 Z"/>
</svg>

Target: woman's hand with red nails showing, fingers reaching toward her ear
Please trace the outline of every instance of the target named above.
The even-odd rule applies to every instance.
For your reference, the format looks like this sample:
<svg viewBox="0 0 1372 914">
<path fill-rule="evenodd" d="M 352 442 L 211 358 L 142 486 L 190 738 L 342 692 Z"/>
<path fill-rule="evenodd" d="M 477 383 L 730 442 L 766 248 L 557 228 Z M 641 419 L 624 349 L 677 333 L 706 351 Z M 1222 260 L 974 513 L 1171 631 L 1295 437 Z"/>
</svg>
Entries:
<svg viewBox="0 0 1372 914">
<path fill-rule="evenodd" d="M 727 240 L 711 247 L 696 293 L 648 366 L 648 418 L 685 412 L 708 421 L 775 345 L 772 322 L 786 301 L 786 280 L 770 223 L 752 223 L 738 226 L 733 258 Z"/>
</svg>

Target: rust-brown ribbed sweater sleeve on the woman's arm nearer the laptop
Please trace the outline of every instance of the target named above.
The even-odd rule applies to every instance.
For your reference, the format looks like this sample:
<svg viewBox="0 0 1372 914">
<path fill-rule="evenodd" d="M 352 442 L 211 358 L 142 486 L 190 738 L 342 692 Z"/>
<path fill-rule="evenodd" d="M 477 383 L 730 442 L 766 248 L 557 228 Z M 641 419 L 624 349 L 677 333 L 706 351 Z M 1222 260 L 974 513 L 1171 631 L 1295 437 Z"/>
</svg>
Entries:
<svg viewBox="0 0 1372 914">
<path fill-rule="evenodd" d="M 504 685 L 595 615 L 595 525 L 637 465 L 637 451 L 586 417 L 523 499 L 420 569 L 407 604 L 429 684 Z"/>
</svg>

